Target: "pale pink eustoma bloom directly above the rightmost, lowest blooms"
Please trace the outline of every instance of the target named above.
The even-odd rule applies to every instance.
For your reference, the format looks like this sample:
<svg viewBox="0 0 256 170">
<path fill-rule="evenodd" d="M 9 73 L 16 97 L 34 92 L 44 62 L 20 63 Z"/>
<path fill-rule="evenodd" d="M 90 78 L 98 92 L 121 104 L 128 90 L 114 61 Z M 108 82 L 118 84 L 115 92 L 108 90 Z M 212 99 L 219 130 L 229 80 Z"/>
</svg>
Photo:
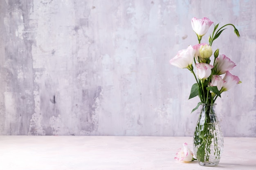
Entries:
<svg viewBox="0 0 256 170">
<path fill-rule="evenodd" d="M 236 66 L 236 64 L 224 54 L 220 54 L 216 58 L 216 64 L 217 64 L 216 74 L 218 75 L 224 74 L 227 71 L 232 70 Z"/>
</svg>

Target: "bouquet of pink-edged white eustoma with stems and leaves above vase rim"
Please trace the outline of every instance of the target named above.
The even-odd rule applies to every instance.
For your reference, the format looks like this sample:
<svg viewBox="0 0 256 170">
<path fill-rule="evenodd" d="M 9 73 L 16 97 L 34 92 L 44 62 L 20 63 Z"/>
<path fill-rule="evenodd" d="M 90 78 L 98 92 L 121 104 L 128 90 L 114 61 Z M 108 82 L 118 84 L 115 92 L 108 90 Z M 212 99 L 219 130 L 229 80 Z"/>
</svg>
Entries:
<svg viewBox="0 0 256 170">
<path fill-rule="evenodd" d="M 192 85 L 189 99 L 199 96 L 200 102 L 191 112 L 195 111 L 202 103 L 214 103 L 222 92 L 229 90 L 234 85 L 241 83 L 238 76 L 232 75 L 229 70 L 233 69 L 236 64 L 231 61 L 225 54 L 219 54 L 217 49 L 214 54 L 212 51 L 213 41 L 216 40 L 226 26 L 233 26 L 234 32 L 240 37 L 238 30 L 233 24 L 226 24 L 218 29 L 219 24 L 214 25 L 212 35 L 209 35 L 209 44 L 201 43 L 202 37 L 207 33 L 213 22 L 207 17 L 191 20 L 193 31 L 198 37 L 198 44 L 189 46 L 180 50 L 178 54 L 170 60 L 171 65 L 178 68 L 187 68 L 195 77 L 196 83 Z M 217 30 L 218 29 L 218 30 Z M 211 57 L 213 54 L 213 57 Z M 212 62 L 212 63 L 211 63 Z M 196 68 L 196 74 L 194 72 Z M 222 76 L 225 76 L 222 78 Z"/>
</svg>

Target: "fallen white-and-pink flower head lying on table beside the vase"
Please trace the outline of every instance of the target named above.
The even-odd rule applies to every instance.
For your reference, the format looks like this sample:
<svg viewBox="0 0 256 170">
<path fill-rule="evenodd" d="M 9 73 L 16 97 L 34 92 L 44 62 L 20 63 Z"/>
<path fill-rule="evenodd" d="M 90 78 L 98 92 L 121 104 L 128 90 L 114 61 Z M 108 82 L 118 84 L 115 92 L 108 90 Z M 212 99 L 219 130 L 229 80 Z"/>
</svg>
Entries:
<svg viewBox="0 0 256 170">
<path fill-rule="evenodd" d="M 190 150 L 187 143 L 183 144 L 183 148 L 178 149 L 174 159 L 180 162 L 191 162 L 196 160 L 193 158 L 193 152 Z"/>
</svg>

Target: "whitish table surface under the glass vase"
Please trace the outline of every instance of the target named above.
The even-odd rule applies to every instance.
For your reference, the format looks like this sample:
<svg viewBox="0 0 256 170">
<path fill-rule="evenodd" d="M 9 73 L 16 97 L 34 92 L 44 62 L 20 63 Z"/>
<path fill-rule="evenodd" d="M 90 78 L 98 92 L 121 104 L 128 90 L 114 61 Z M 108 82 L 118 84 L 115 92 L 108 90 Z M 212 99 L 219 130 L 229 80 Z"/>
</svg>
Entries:
<svg viewBox="0 0 256 170">
<path fill-rule="evenodd" d="M 256 137 L 225 137 L 215 167 L 174 160 L 193 137 L 0 136 L 0 170 L 256 170 Z"/>
</svg>

